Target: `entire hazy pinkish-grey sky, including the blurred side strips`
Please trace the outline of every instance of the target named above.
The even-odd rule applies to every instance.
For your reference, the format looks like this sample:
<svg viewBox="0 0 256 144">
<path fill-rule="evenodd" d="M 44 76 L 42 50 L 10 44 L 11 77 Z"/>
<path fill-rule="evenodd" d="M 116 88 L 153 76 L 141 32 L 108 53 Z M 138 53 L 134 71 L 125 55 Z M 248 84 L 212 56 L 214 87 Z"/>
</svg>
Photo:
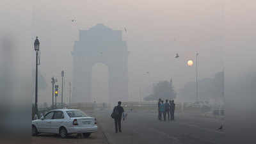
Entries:
<svg viewBox="0 0 256 144">
<path fill-rule="evenodd" d="M 67 74 L 67 88 L 68 82 L 72 81 L 70 51 L 74 40 L 78 40 L 78 31 L 90 29 L 98 23 L 123 31 L 123 39 L 131 52 L 128 68 L 132 100 L 138 99 L 140 87 L 146 92 L 152 83 L 170 77 L 176 90 L 188 81 L 195 81 L 195 67 L 186 66 L 186 61 L 195 60 L 196 51 L 199 52 L 200 78 L 213 77 L 216 72 L 223 70 L 223 65 L 230 70 L 230 77 L 255 70 L 252 67 L 255 60 L 253 1 L 13 2 L 3 1 L 5 6 L 1 9 L 1 16 L 5 22 L 1 26 L 4 26 L 3 29 L 9 26 L 15 31 L 13 35 L 17 40 L 26 41 L 22 45 L 26 51 L 20 49 L 19 54 L 24 56 L 22 60 L 26 63 L 32 58 L 32 68 L 35 67 L 35 51 L 31 44 L 35 36 L 40 37 L 40 72 L 48 83 L 47 90 L 40 94 L 40 102 L 51 102 L 51 77 L 58 77 L 60 84 L 61 70 Z M 12 11 L 9 13 L 10 9 Z M 245 13 L 247 17 L 244 17 Z M 72 19 L 76 19 L 76 22 L 72 22 Z M 31 35 L 23 38 L 22 31 Z M 179 53 L 179 59 L 174 58 L 176 53 Z M 31 65 L 22 67 L 24 72 L 31 69 Z M 93 72 L 93 86 L 102 83 L 100 93 L 106 92 L 107 67 L 97 64 Z M 146 72 L 150 72 L 150 75 L 143 76 Z"/>
</svg>

